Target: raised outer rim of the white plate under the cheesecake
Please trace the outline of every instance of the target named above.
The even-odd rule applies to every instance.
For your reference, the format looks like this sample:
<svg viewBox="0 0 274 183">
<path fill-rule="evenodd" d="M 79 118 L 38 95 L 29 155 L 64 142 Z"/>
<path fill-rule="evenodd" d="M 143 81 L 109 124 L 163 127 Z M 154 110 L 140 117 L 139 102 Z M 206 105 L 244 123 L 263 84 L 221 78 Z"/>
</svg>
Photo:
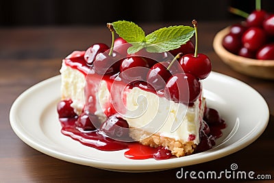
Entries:
<svg viewBox="0 0 274 183">
<path fill-rule="evenodd" d="M 20 103 L 23 101 L 23 99 L 25 99 L 25 97 L 27 97 L 27 95 L 29 95 L 29 93 L 32 93 L 33 91 L 38 90 L 39 88 L 41 88 L 47 84 L 51 84 L 52 82 L 59 82 L 61 80 L 60 75 L 50 77 L 49 79 L 43 80 L 42 82 L 39 82 L 38 84 L 34 84 L 34 86 L 27 88 L 27 90 L 25 90 L 25 91 L 23 91 L 23 93 L 21 93 L 21 95 L 19 95 L 14 100 L 14 103 L 12 103 L 12 106 L 10 108 L 10 125 L 12 127 L 12 130 L 15 132 L 15 134 L 19 138 L 21 138 L 21 140 L 24 143 L 26 143 L 30 147 L 42 152 L 43 154 L 47 154 L 48 156 L 52 156 L 53 158 L 58 158 L 60 160 L 64 160 L 67 162 L 73 162 L 75 164 L 82 164 L 82 165 L 95 167 L 95 168 L 99 168 L 99 169 L 108 169 L 110 171 L 147 172 L 147 171 L 161 171 L 164 169 L 173 169 L 176 167 L 189 166 L 192 164 L 208 162 L 211 160 L 223 158 L 225 156 L 228 156 L 229 154 L 233 154 L 236 151 L 239 151 L 240 149 L 247 147 L 248 145 L 250 145 L 251 143 L 256 141 L 256 139 L 258 139 L 259 136 L 261 136 L 261 134 L 264 132 L 264 130 L 266 129 L 266 127 L 269 123 L 269 106 L 267 105 L 264 97 L 262 97 L 262 95 L 260 95 L 260 93 L 258 93 L 257 90 L 255 90 L 248 84 L 245 84 L 245 82 L 237 80 L 236 78 L 230 77 L 228 75 L 216 73 L 214 71 L 212 71 L 212 73 L 210 73 L 210 75 L 211 76 L 217 75 L 219 77 L 225 77 L 226 79 L 229 79 L 229 80 L 234 80 L 234 82 L 235 81 L 240 82 L 240 84 L 244 84 L 249 89 L 253 90 L 253 92 L 256 92 L 256 95 L 258 95 L 258 97 L 260 97 L 262 99 L 262 101 L 264 102 L 263 103 L 264 106 L 267 108 L 267 111 L 266 111 L 267 117 L 265 119 L 265 122 L 263 123 L 264 125 L 260 126 L 258 131 L 245 135 L 245 138 L 253 136 L 251 139 L 249 139 L 249 141 L 237 141 L 236 143 L 229 145 L 227 147 L 223 147 L 222 149 L 217 149 L 217 150 L 215 149 L 214 151 L 209 150 L 209 151 L 202 152 L 199 154 L 192 154 L 191 158 L 195 157 L 195 161 L 192 161 L 192 162 L 187 161 L 183 165 L 182 165 L 182 161 L 177 160 L 177 158 L 173 158 L 173 159 L 169 159 L 169 160 L 160 160 L 160 161 L 157 161 L 157 163 L 155 163 L 155 161 L 151 161 L 151 162 L 147 163 L 145 167 L 143 166 L 143 164 L 142 164 L 142 166 L 140 165 L 140 163 L 138 162 L 140 160 L 134 160 L 137 162 L 136 164 L 125 164 L 125 163 L 117 164 L 115 162 L 114 163 L 112 163 L 112 162 L 106 163 L 106 162 L 101 162 L 100 160 L 94 160 L 94 159 L 86 160 L 84 158 L 79 158 L 79 157 L 71 156 L 69 154 L 63 154 L 58 151 L 54 151 L 53 149 L 49 149 L 47 147 L 40 145 L 39 143 L 34 141 L 34 139 L 29 139 L 26 136 L 26 134 L 24 134 L 24 132 L 22 132 L 20 130 L 20 128 L 18 128 L 18 122 L 16 121 L 16 110 L 18 110 Z M 256 135 L 254 136 L 254 134 L 256 134 Z M 203 155 L 203 156 L 201 156 L 201 155 Z M 216 158 L 216 156 L 217 156 L 217 158 Z M 189 156 L 185 156 L 182 158 L 189 158 Z M 169 162 L 169 163 L 166 163 L 166 162 Z M 161 165 L 164 165 L 164 169 L 160 168 Z M 141 169 L 140 169 L 140 166 L 142 167 Z"/>
</svg>

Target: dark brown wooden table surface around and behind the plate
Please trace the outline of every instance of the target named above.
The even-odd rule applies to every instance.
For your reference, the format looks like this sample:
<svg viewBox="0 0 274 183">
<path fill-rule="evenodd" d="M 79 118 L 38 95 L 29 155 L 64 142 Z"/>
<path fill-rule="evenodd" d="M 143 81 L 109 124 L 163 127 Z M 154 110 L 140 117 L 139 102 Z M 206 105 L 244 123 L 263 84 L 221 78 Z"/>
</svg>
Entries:
<svg viewBox="0 0 274 183">
<path fill-rule="evenodd" d="M 213 71 L 235 77 L 258 90 L 269 105 L 269 125 L 262 136 L 248 147 L 218 160 L 184 167 L 184 170 L 225 171 L 236 163 L 240 170 L 271 175 L 274 180 L 274 81 L 237 73 L 216 56 L 212 48 L 214 35 L 231 23 L 199 23 L 199 52 L 206 53 L 212 60 Z M 145 32 L 151 32 L 166 25 L 155 23 L 141 26 Z M 85 50 L 95 42 L 110 45 L 110 38 L 108 29 L 103 25 L 0 28 L 0 182 L 184 181 L 176 178 L 180 168 L 150 173 L 119 173 L 58 160 L 32 149 L 12 131 L 9 112 L 18 95 L 42 80 L 59 75 L 61 60 L 71 51 Z M 195 180 L 188 178 L 188 181 Z"/>
</svg>

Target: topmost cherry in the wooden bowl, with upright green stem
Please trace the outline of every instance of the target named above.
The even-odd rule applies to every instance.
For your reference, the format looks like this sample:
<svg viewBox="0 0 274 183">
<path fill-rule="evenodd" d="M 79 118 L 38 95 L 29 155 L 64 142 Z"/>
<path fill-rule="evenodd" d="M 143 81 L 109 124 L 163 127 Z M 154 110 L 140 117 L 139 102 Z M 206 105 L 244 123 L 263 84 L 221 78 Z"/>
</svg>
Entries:
<svg viewBox="0 0 274 183">
<path fill-rule="evenodd" d="M 268 14 L 264 10 L 255 10 L 247 16 L 247 27 L 262 27 L 262 22 Z"/>
</svg>

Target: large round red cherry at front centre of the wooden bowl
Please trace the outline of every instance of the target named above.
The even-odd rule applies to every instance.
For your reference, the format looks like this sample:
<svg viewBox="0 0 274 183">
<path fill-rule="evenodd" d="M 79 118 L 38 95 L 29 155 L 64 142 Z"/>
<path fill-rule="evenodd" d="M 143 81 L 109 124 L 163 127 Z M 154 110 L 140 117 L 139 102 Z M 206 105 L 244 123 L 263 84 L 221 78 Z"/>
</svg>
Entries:
<svg viewBox="0 0 274 183">
<path fill-rule="evenodd" d="M 256 51 L 266 42 L 266 34 L 259 27 L 250 27 L 242 34 L 242 44 L 251 51 Z"/>
</svg>

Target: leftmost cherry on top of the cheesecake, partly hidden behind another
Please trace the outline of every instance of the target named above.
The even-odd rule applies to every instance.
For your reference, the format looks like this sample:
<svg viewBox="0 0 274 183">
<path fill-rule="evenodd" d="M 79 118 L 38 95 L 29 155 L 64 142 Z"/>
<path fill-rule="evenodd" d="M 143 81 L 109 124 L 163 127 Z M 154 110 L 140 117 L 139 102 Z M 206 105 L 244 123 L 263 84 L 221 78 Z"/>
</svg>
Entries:
<svg viewBox="0 0 274 183">
<path fill-rule="evenodd" d="M 86 50 L 86 53 L 84 55 L 86 63 L 89 66 L 91 66 L 92 63 L 95 61 L 98 53 L 103 53 L 103 52 L 107 51 L 108 49 L 110 49 L 110 47 L 108 47 L 108 45 L 105 45 L 103 43 L 97 43 L 97 44 L 92 45 L 91 47 L 89 47 Z"/>
</svg>

